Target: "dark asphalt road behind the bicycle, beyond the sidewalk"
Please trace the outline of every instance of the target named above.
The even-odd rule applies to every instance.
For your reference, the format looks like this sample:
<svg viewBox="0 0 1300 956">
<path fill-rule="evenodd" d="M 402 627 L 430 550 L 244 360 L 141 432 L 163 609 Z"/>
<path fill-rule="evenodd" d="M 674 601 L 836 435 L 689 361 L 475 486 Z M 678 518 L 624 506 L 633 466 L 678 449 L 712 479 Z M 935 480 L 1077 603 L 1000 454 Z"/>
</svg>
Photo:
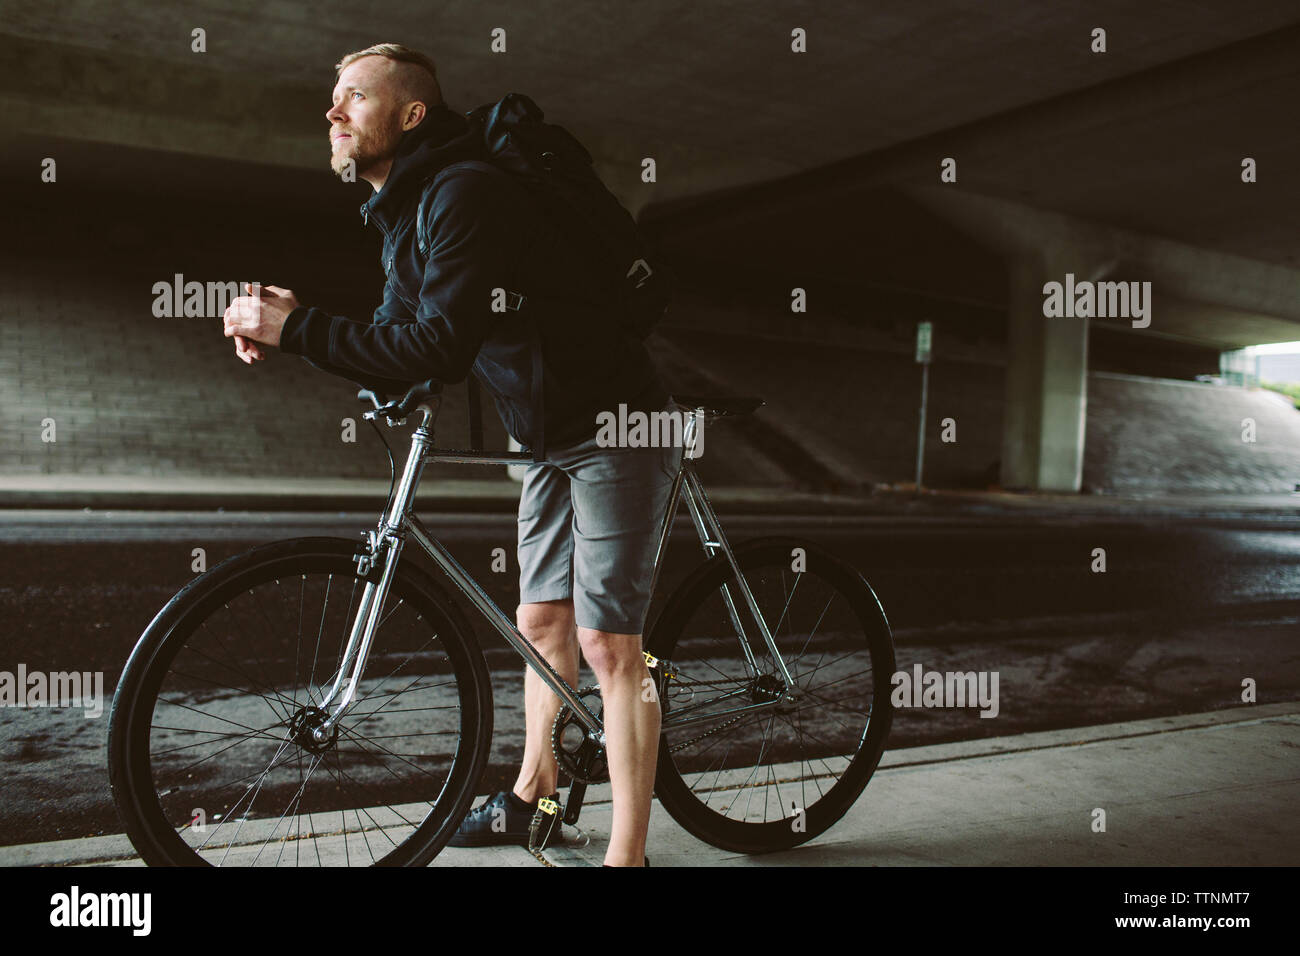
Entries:
<svg viewBox="0 0 1300 956">
<path fill-rule="evenodd" d="M 425 515 L 510 610 L 514 520 Z M 997 671 L 996 718 L 901 709 L 892 748 L 1110 723 L 1300 696 L 1300 535 L 1294 522 L 1036 518 L 727 518 L 734 541 L 806 535 L 854 563 L 888 613 L 898 669 Z M 108 696 L 140 631 L 187 580 L 255 544 L 356 537 L 370 515 L 0 512 L 0 671 L 101 671 L 104 711 L 0 708 L 0 844 L 117 832 L 108 793 Z M 503 548 L 507 570 L 491 570 Z M 1097 549 L 1105 571 L 1095 570 Z M 698 561 L 689 527 L 667 593 Z M 653 617 L 654 611 L 651 611 Z M 521 666 L 481 630 L 497 698 L 482 790 L 521 750 Z M 589 674 L 586 675 L 589 676 Z"/>
</svg>

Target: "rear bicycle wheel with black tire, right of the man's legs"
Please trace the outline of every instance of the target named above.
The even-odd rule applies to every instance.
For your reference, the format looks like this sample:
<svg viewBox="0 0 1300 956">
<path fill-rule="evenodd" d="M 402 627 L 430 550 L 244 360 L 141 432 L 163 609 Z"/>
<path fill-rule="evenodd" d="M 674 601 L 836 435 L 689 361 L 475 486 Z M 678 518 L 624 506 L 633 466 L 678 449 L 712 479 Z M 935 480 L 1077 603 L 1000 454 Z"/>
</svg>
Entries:
<svg viewBox="0 0 1300 956">
<path fill-rule="evenodd" d="M 793 570 L 796 548 L 803 549 L 803 571 Z M 871 585 L 824 548 L 779 537 L 742 544 L 733 553 L 774 630 L 774 640 L 790 676 L 802 688 L 801 700 L 785 713 L 768 710 L 703 724 L 671 726 L 673 714 L 681 717 L 686 708 L 699 708 L 696 714 L 708 714 L 711 706 L 722 710 L 737 702 L 757 702 L 770 698 L 772 689 L 784 683 L 734 587 L 727 557 L 719 554 L 706 561 L 668 598 L 646 643 L 653 656 L 668 662 L 670 674 L 676 671 L 675 678 L 663 682 L 660 693 L 664 726 L 655 793 L 673 819 L 701 840 L 732 852 L 764 853 L 796 847 L 826 832 L 866 788 L 880 762 L 893 721 L 889 693 L 894 649 L 889 622 Z M 816 580 L 820 580 L 819 587 L 809 587 Z M 785 598 L 774 600 L 768 587 L 774 581 L 785 589 Z M 753 633 L 750 646 L 759 672 L 744 661 L 740 637 L 723 600 L 724 584 L 733 585 L 731 593 L 741 609 L 741 622 Z M 826 598 L 826 609 L 809 627 L 826 592 L 831 594 Z M 805 614 L 802 605 L 809 598 L 815 606 Z M 784 604 L 775 605 L 777 600 Z M 838 605 L 835 618 L 818 636 L 833 605 Z M 820 657 L 814 663 L 811 654 L 815 652 Z M 828 662 L 831 652 L 837 656 Z M 846 653 L 838 656 L 840 652 Z M 842 665 L 850 657 L 854 661 Z M 837 676 L 862 662 L 868 665 L 862 675 Z M 827 687 L 818 682 L 823 669 L 831 669 L 823 676 L 835 676 L 837 687 L 828 692 L 833 697 L 819 693 Z M 857 698 L 841 696 L 842 691 L 855 687 L 842 687 L 849 680 L 861 684 L 862 705 Z M 724 693 L 742 696 L 722 701 L 719 696 Z M 718 702 L 710 705 L 710 700 Z M 853 702 L 846 706 L 849 700 Z M 857 719 L 861 727 L 855 726 Z M 842 726 L 832 727 L 832 723 Z M 780 731 L 780 736 L 774 736 L 774 730 Z M 760 741 L 755 741 L 755 731 L 763 735 Z M 718 747 L 728 740 L 727 749 L 719 753 Z M 737 747 L 740 754 L 733 756 Z M 751 761 L 746 753 L 757 756 L 749 774 L 745 769 Z M 833 783 L 828 761 L 845 761 Z M 772 774 L 772 767 L 783 763 L 788 765 L 786 774 L 797 774 L 797 782 Z M 750 783 L 759 769 L 766 777 L 759 783 Z M 759 790 L 763 792 L 762 817 L 755 817 L 754 799 Z M 746 795 L 744 806 L 740 805 L 742 793 Z M 768 816 L 774 803 L 780 816 Z"/>
</svg>

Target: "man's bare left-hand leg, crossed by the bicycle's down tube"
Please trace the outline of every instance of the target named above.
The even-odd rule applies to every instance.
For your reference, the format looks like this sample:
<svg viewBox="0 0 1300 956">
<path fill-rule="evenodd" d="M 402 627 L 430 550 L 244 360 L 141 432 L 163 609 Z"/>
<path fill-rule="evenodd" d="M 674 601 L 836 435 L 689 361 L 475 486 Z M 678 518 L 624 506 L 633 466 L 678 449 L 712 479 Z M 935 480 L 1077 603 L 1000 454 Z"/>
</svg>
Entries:
<svg viewBox="0 0 1300 956">
<path fill-rule="evenodd" d="M 537 648 L 546 662 L 577 687 L 577 636 L 573 628 L 573 600 L 521 604 L 516 613 L 520 632 Z M 637 644 L 640 648 L 640 643 Z M 515 780 L 515 796 L 528 803 L 555 792 L 559 766 L 551 752 L 551 724 L 560 710 L 560 698 L 528 667 L 524 672 L 524 762 Z"/>
</svg>

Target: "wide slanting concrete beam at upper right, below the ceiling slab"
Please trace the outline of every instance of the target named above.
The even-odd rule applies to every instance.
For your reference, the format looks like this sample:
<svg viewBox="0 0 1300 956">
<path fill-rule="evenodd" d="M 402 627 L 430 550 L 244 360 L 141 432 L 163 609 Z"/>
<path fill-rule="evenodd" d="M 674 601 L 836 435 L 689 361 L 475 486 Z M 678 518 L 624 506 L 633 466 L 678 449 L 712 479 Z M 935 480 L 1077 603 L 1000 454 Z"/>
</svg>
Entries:
<svg viewBox="0 0 1300 956">
<path fill-rule="evenodd" d="M 944 189 L 953 193 L 1297 268 L 1297 104 L 1300 26 L 1288 26 L 655 213 L 679 234 L 753 230 L 759 217 L 786 212 L 844 215 L 881 189 L 937 185 L 950 156 L 958 185 Z M 1257 163 L 1254 183 L 1242 182 L 1244 157 Z"/>
</svg>

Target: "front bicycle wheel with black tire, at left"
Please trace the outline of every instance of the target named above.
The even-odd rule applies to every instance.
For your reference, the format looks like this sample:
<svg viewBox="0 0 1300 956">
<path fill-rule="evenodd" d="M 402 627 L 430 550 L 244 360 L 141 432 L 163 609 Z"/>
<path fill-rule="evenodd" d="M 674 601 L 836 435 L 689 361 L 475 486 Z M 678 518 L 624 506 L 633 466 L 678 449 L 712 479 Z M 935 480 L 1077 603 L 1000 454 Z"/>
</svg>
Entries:
<svg viewBox="0 0 1300 956">
<path fill-rule="evenodd" d="M 300 728 L 320 701 L 312 685 L 329 687 L 365 584 L 358 550 L 333 537 L 255 548 L 198 576 L 144 630 L 113 697 L 108 761 L 118 816 L 147 864 L 250 865 L 256 849 L 251 865 L 422 866 L 451 839 L 488 760 L 491 683 L 464 615 L 408 557 L 338 736 L 304 747 Z M 304 627 L 315 639 L 304 643 Z M 425 702 L 434 706 L 411 706 Z M 377 732 L 410 726 L 421 732 Z M 246 782 L 260 766 L 254 790 Z"/>
</svg>

